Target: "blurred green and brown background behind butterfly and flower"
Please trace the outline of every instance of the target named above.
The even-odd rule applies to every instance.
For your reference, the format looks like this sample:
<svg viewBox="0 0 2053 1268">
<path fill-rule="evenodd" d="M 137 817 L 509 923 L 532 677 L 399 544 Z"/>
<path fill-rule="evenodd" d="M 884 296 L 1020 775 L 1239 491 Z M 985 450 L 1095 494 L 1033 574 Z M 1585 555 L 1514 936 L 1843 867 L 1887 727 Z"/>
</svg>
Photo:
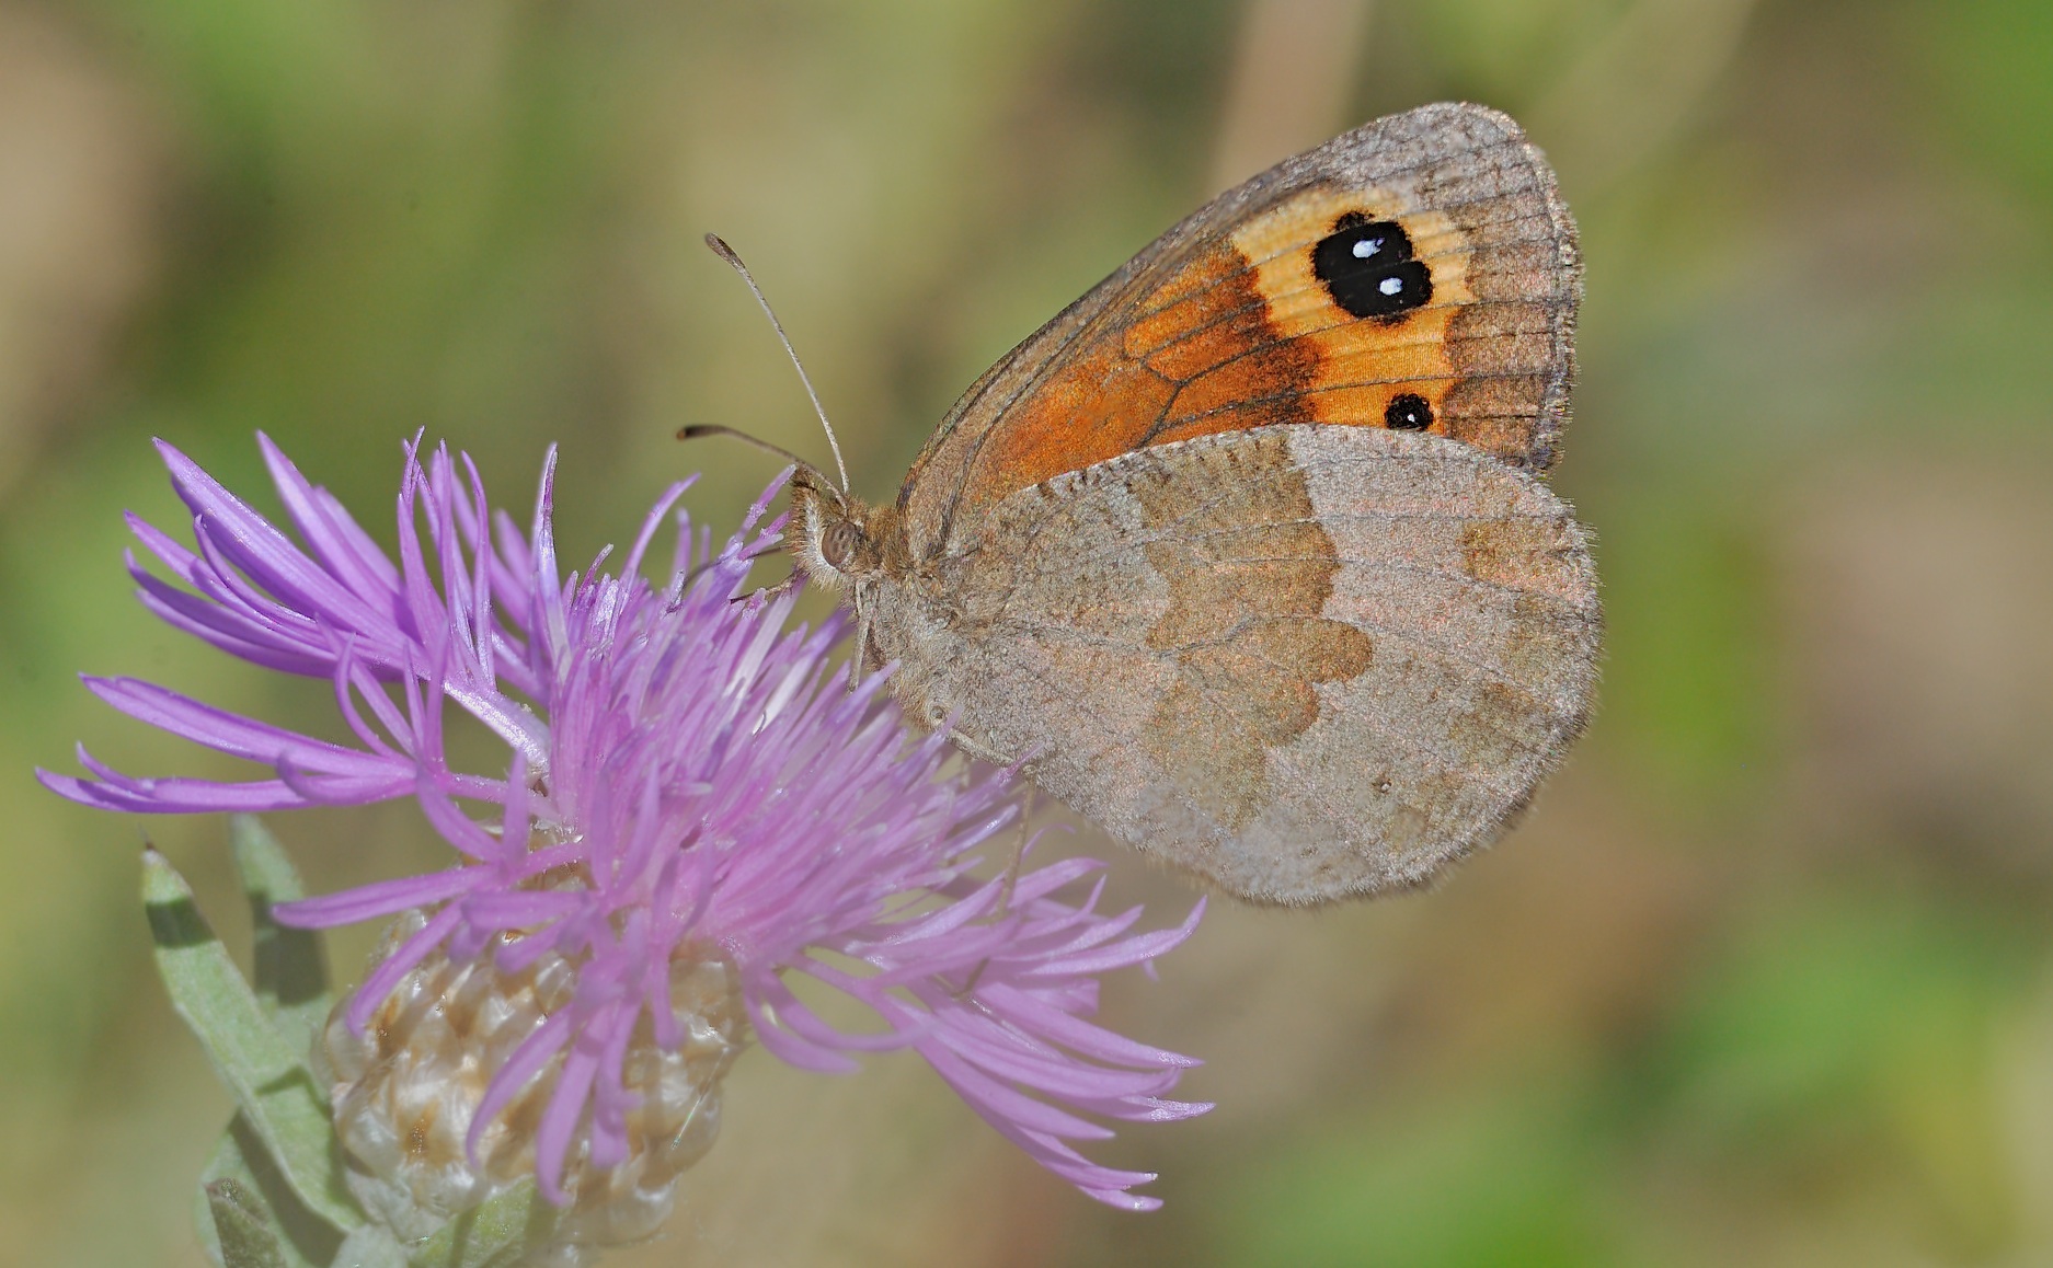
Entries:
<svg viewBox="0 0 2053 1268">
<path fill-rule="evenodd" d="M 677 425 L 823 445 L 719 230 L 883 497 L 1201 199 L 1449 96 L 1527 125 L 1589 259 L 1568 769 L 1435 893 L 1217 907 L 1119 983 L 1219 1102 L 1100 1151 L 1166 1211 L 912 1057 L 758 1053 L 610 1262 L 2053 1264 L 2045 0 L 0 0 L 0 1264 L 199 1264 L 226 1118 L 133 899 L 148 831 L 246 940 L 224 825 L 29 771 L 228 767 L 72 675 L 326 726 L 129 599 L 152 435 L 263 494 L 265 429 L 386 536 L 421 427 L 513 505 L 560 441 L 567 558 L 692 468 L 725 523 L 772 464 Z M 437 849 L 409 806 L 273 827 L 320 888 Z"/>
</svg>

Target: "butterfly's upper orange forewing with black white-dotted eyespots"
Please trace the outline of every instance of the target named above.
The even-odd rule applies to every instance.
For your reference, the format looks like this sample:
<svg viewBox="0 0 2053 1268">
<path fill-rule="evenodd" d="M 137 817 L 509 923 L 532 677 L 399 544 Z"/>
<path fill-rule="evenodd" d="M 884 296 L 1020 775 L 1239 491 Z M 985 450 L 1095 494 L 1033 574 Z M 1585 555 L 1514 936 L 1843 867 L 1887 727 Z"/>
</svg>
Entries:
<svg viewBox="0 0 2053 1268">
<path fill-rule="evenodd" d="M 985 373 L 899 494 L 912 552 L 1061 472 L 1279 423 L 1449 435 L 1546 470 L 1579 295 L 1575 226 L 1511 119 L 1376 121 L 1222 195 Z"/>
</svg>

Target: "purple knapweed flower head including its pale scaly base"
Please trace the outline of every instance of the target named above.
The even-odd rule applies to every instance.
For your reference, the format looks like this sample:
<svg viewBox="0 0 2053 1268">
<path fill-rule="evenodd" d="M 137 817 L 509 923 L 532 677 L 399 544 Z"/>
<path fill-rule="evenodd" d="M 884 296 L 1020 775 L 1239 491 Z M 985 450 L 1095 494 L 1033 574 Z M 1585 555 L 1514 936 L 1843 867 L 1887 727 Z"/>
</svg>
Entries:
<svg viewBox="0 0 2053 1268">
<path fill-rule="evenodd" d="M 117 710 L 269 769 L 146 780 L 80 751 L 88 778 L 41 778 L 146 813 L 413 796 L 456 847 L 448 870 L 277 909 L 302 927 L 396 921 L 322 1057 L 359 1167 L 441 1217 L 503 1180 L 505 1159 L 558 1204 L 632 1172 L 649 1206 L 710 1143 L 719 1079 L 753 1032 L 815 1071 L 914 1048 L 1053 1174 L 1111 1204 L 1158 1204 L 1129 1192 L 1152 1174 L 1092 1163 L 1076 1143 L 1109 1137 L 1102 1118 L 1209 1108 L 1168 1100 L 1195 1061 L 1088 1018 L 1105 973 L 1170 950 L 1199 911 L 1135 932 L 1137 909 L 1098 909 L 1102 864 L 1029 866 L 1006 771 L 907 732 L 883 675 L 844 689 L 836 622 L 790 626 L 790 595 L 737 597 L 782 529 L 762 523 L 778 486 L 714 550 L 675 511 L 677 484 L 618 570 L 602 552 L 563 574 L 554 453 L 521 531 L 468 458 L 417 439 L 394 560 L 259 441 L 298 542 L 160 445 L 195 548 L 131 515 L 175 581 L 133 554 L 129 570 L 166 624 L 328 679 L 355 743 L 88 677 Z M 643 562 L 669 519 L 657 587 Z M 505 745 L 501 769 L 452 765 L 450 706 Z M 831 993 L 875 1022 L 850 1028 L 809 1003 Z M 421 1172 L 406 1114 L 454 1131 L 456 1157 Z"/>
</svg>

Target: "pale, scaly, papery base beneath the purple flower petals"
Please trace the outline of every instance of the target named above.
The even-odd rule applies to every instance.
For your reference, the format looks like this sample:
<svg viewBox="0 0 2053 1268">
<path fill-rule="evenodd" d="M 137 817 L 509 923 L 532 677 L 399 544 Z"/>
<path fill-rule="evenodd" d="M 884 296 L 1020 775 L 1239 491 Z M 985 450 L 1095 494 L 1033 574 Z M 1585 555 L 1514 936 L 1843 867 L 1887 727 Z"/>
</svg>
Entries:
<svg viewBox="0 0 2053 1268">
<path fill-rule="evenodd" d="M 394 921 L 374 962 L 392 956 L 425 923 L 421 913 Z M 485 1126 L 476 1165 L 466 1137 L 495 1071 L 573 1003 L 577 970 L 550 952 L 507 973 L 493 962 L 495 950 L 468 962 L 431 952 L 400 979 L 361 1034 L 345 1018 L 345 999 L 316 1042 L 314 1071 L 331 1089 L 349 1186 L 400 1241 L 419 1241 L 536 1174 L 536 1128 L 565 1053 Z M 712 1147 L 721 1081 L 749 1028 L 733 966 L 719 956 L 684 954 L 694 950 L 704 948 L 682 946 L 669 968 L 684 1042 L 657 1044 L 643 1018 L 622 1063 L 626 1089 L 641 1098 L 626 1112 L 626 1159 L 597 1167 L 589 1135 L 577 1135 L 563 1170 L 567 1204 L 554 1241 L 530 1256 L 530 1266 L 573 1268 L 589 1264 L 599 1247 L 651 1237 L 669 1219 L 686 1167 Z"/>
</svg>

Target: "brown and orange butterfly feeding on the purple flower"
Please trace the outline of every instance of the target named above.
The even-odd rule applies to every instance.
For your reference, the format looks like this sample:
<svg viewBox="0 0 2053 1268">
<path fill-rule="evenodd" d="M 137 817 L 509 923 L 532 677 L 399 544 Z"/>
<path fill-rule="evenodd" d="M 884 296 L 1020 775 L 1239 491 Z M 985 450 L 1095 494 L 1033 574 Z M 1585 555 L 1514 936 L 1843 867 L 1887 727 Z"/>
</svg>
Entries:
<svg viewBox="0 0 2053 1268">
<path fill-rule="evenodd" d="M 1581 256 L 1505 115 L 1349 131 L 1174 226 L 983 373 L 797 570 L 907 714 L 1256 903 L 1417 886 L 1581 732 L 1601 616 L 1542 474 Z"/>
</svg>

